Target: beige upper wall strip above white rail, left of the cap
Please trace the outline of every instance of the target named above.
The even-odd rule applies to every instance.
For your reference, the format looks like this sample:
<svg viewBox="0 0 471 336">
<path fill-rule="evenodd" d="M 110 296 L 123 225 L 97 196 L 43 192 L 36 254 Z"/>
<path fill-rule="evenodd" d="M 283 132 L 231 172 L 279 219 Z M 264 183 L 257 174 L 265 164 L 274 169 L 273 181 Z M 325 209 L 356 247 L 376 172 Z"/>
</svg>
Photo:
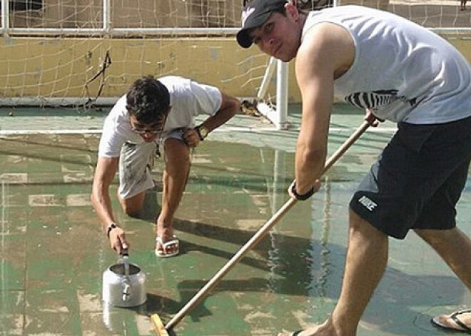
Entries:
<svg viewBox="0 0 471 336">
<path fill-rule="evenodd" d="M 11 11 L 16 28 L 97 28 L 103 0 L 43 0 L 35 11 Z M 239 0 L 112 0 L 111 23 L 120 28 L 233 27 L 240 24 Z"/>
</svg>

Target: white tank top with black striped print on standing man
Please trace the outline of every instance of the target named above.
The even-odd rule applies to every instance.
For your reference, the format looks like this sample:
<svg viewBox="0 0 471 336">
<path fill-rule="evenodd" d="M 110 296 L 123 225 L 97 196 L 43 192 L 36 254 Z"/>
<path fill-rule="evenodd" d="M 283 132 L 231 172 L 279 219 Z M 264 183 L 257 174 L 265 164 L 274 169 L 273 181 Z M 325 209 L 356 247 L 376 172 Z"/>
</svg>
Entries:
<svg viewBox="0 0 471 336">
<path fill-rule="evenodd" d="M 336 98 L 394 122 L 446 123 L 471 116 L 470 65 L 445 39 L 362 6 L 310 12 L 303 39 L 321 22 L 343 26 L 355 42 L 352 66 L 334 82 Z"/>
</svg>

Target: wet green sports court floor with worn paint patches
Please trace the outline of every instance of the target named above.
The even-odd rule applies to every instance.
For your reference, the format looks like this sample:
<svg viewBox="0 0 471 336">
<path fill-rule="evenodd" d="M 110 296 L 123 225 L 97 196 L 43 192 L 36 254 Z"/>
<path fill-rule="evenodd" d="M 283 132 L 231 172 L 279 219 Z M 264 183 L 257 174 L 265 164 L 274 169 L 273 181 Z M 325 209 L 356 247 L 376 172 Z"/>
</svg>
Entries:
<svg viewBox="0 0 471 336">
<path fill-rule="evenodd" d="M 330 152 L 361 122 L 359 115 L 340 112 L 333 116 Z M 21 113 L 17 116 L 2 118 L 2 131 L 24 129 L 24 123 L 18 126 Z M 299 120 L 290 118 L 293 124 Z M 390 124 L 382 128 L 360 138 L 325 175 L 320 192 L 286 213 L 173 335 L 277 335 L 325 320 L 340 291 L 348 201 L 392 134 Z M 181 241 L 176 258 L 153 254 L 159 183 L 148 192 L 141 218 L 124 215 L 112 198 L 132 245 L 130 260 L 146 275 L 146 303 L 125 309 L 101 302 L 101 277 L 117 256 L 89 200 L 99 134 L 4 132 L 0 335 L 156 335 L 149 315 L 170 320 L 288 200 L 296 135 L 240 116 L 196 149 L 176 214 Z M 156 161 L 156 180 L 161 168 Z M 113 184 L 112 196 L 116 188 Z M 458 225 L 468 234 L 470 188 L 458 207 Z M 358 335 L 446 335 L 430 318 L 470 305 L 469 293 L 450 270 L 410 234 L 391 241 L 385 278 Z"/>
</svg>

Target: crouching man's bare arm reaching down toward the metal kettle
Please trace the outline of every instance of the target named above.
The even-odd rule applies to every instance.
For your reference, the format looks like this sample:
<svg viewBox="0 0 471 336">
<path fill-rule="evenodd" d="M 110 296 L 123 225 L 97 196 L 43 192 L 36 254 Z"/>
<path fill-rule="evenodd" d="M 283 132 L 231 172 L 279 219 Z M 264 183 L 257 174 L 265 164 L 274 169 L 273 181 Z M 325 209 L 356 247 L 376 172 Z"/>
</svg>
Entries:
<svg viewBox="0 0 471 336">
<path fill-rule="evenodd" d="M 109 186 L 113 182 L 118 168 L 119 158 L 98 157 L 93 185 L 91 191 L 91 203 L 95 208 L 96 215 L 100 220 L 103 232 L 108 235 L 110 245 L 118 253 L 123 248 L 128 248 L 128 243 L 124 231 L 119 228 L 113 217 L 113 208 L 111 208 L 111 199 L 109 195 Z M 112 225 L 114 224 L 114 225 Z"/>
</svg>

